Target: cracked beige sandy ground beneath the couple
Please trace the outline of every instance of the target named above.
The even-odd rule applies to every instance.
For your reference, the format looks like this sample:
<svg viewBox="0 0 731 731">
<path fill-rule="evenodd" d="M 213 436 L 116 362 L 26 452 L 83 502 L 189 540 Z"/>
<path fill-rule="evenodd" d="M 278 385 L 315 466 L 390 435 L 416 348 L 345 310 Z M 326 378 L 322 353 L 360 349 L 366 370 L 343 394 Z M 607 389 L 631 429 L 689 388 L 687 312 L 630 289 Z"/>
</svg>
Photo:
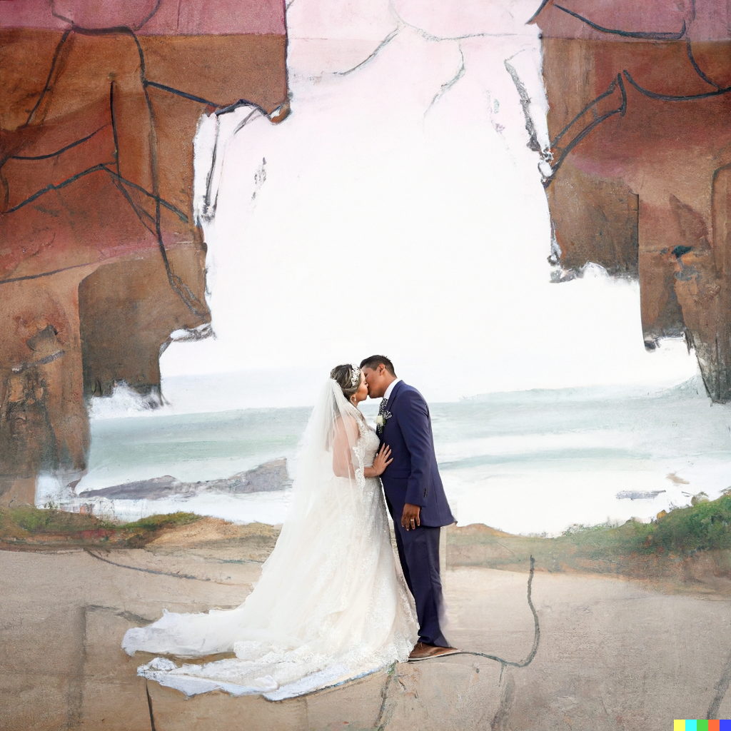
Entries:
<svg viewBox="0 0 731 731">
<path fill-rule="evenodd" d="M 223 532 L 222 532 L 223 531 Z M 176 611 L 233 607 L 251 591 L 271 537 L 241 541 L 187 526 L 139 550 L 0 551 L 0 729 L 654 730 L 731 716 L 731 605 L 615 577 L 537 566 L 536 656 L 526 667 L 464 654 L 308 697 L 182 694 L 137 678 L 119 643 L 129 626 Z M 521 662 L 534 641 L 526 573 L 447 570 L 447 637 Z"/>
</svg>

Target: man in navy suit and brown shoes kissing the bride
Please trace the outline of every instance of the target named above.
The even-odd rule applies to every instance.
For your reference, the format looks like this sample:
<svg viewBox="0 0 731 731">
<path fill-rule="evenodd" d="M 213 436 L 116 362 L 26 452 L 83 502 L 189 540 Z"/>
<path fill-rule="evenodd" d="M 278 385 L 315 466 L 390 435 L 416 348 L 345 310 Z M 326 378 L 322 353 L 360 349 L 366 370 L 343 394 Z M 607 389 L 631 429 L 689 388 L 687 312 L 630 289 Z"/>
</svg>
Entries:
<svg viewBox="0 0 731 731">
<path fill-rule="evenodd" d="M 419 642 L 409 660 L 452 655 L 439 627 L 442 580 L 439 578 L 439 530 L 455 522 L 436 467 L 429 408 L 414 387 L 396 377 L 385 355 L 360 363 L 368 395 L 382 398 L 376 419 L 382 444 L 392 462 L 381 475 L 404 578 L 416 602 Z"/>
</svg>

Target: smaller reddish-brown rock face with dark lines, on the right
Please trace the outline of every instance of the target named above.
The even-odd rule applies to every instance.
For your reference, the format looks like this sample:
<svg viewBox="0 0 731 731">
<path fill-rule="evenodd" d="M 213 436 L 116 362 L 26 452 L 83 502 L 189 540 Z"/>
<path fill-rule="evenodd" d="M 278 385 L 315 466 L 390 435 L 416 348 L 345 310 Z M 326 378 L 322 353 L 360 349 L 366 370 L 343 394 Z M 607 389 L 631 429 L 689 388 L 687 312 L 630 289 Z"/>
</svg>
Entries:
<svg viewBox="0 0 731 731">
<path fill-rule="evenodd" d="M 731 400 L 727 0 L 548 1 L 542 31 L 557 263 L 639 278 L 645 346 L 684 336 Z"/>
</svg>

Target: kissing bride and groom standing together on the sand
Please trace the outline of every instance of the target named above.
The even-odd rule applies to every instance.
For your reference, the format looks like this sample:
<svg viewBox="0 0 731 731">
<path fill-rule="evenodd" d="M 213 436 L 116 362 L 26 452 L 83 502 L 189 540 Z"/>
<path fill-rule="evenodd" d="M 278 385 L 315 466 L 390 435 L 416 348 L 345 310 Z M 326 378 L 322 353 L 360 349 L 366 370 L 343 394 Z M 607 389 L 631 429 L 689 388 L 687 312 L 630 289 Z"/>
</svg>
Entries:
<svg viewBox="0 0 731 731">
<path fill-rule="evenodd" d="M 376 431 L 358 409 L 368 396 L 382 399 Z M 337 366 L 300 442 L 292 502 L 254 591 L 234 610 L 163 610 L 129 629 L 122 647 L 234 654 L 205 664 L 156 657 L 137 672 L 187 695 L 268 700 L 458 653 L 440 625 L 439 531 L 454 522 L 423 396 L 385 356 Z"/>
</svg>

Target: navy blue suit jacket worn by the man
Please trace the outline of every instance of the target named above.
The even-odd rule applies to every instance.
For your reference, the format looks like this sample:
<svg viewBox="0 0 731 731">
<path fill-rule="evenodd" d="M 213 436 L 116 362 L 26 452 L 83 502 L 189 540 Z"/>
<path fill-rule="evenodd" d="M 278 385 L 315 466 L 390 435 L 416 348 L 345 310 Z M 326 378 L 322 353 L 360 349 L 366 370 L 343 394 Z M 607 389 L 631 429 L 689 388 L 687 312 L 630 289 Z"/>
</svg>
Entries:
<svg viewBox="0 0 731 731">
<path fill-rule="evenodd" d="M 381 443 L 391 447 L 393 462 L 381 475 L 391 515 L 401 520 L 404 503 L 421 507 L 423 526 L 449 526 L 455 522 L 442 478 L 436 466 L 429 407 L 413 386 L 398 382 L 388 399 Z"/>
</svg>

